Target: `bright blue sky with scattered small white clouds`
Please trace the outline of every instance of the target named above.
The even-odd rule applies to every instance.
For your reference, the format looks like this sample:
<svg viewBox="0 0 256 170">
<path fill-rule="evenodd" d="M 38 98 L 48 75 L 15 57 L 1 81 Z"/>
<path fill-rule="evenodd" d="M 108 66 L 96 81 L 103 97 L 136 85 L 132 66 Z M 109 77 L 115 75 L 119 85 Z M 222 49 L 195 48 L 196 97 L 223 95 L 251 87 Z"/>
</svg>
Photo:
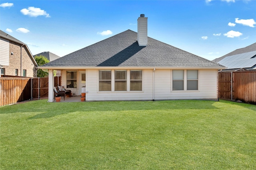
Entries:
<svg viewBox="0 0 256 170">
<path fill-rule="evenodd" d="M 256 0 L 1 0 L 0 29 L 60 57 L 131 29 L 208 60 L 256 42 Z"/>
</svg>

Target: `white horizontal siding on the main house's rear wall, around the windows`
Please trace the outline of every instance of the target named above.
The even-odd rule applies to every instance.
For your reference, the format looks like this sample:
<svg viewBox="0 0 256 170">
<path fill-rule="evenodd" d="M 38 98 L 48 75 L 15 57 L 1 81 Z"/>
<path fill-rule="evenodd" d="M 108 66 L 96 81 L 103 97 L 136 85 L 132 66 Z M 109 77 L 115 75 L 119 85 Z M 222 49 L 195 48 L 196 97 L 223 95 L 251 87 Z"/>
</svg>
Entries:
<svg viewBox="0 0 256 170">
<path fill-rule="evenodd" d="M 132 69 L 131 69 L 132 70 Z M 131 78 L 128 76 L 127 81 Z M 114 70 L 112 82 L 114 83 Z M 198 90 L 172 90 L 172 70 L 156 69 L 142 70 L 141 91 L 99 91 L 99 70 L 86 70 L 86 101 L 99 100 L 178 100 L 178 99 L 217 99 L 218 70 L 198 70 Z M 187 75 L 187 74 L 186 74 Z M 184 77 L 185 78 L 185 77 Z M 129 83 L 127 83 L 129 84 Z M 112 84 L 114 87 L 114 84 Z M 128 88 L 128 86 L 127 86 Z"/>
</svg>

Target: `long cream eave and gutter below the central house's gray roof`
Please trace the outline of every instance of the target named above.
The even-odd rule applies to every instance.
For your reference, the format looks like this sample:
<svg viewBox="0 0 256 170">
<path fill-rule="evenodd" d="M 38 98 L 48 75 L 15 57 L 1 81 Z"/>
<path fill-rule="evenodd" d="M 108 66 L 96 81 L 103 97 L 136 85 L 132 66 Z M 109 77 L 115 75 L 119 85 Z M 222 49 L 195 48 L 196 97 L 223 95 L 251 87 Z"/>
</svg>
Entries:
<svg viewBox="0 0 256 170">
<path fill-rule="evenodd" d="M 150 67 L 135 67 L 135 66 L 38 66 L 40 69 L 50 69 L 50 70 L 86 70 L 86 69 L 143 69 L 143 70 L 152 70 L 152 69 L 171 69 L 171 70 L 185 70 L 185 69 L 197 69 L 197 70 L 220 70 L 225 69 L 226 67 L 159 67 L 159 66 L 150 66 Z"/>
</svg>

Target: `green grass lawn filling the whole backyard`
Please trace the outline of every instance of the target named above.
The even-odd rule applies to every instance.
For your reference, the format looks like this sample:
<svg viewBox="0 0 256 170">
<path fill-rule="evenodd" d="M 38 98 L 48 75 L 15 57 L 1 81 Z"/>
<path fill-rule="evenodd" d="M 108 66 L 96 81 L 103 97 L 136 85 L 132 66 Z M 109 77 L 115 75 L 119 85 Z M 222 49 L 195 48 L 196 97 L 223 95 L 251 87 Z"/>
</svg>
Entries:
<svg viewBox="0 0 256 170">
<path fill-rule="evenodd" d="M 0 107 L 2 170 L 255 170 L 256 106 L 228 101 Z"/>
</svg>

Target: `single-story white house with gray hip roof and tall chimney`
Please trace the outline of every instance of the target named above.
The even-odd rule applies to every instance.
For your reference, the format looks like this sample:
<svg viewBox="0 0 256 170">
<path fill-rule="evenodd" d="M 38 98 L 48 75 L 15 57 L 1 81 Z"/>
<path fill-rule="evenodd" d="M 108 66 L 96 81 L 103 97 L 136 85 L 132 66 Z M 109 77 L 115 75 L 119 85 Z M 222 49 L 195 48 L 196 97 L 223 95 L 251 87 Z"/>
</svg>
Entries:
<svg viewBox="0 0 256 170">
<path fill-rule="evenodd" d="M 218 70 L 224 66 L 148 37 L 148 18 L 138 33 L 126 30 L 39 68 L 62 70 L 62 85 L 86 100 L 218 99 Z"/>
</svg>

